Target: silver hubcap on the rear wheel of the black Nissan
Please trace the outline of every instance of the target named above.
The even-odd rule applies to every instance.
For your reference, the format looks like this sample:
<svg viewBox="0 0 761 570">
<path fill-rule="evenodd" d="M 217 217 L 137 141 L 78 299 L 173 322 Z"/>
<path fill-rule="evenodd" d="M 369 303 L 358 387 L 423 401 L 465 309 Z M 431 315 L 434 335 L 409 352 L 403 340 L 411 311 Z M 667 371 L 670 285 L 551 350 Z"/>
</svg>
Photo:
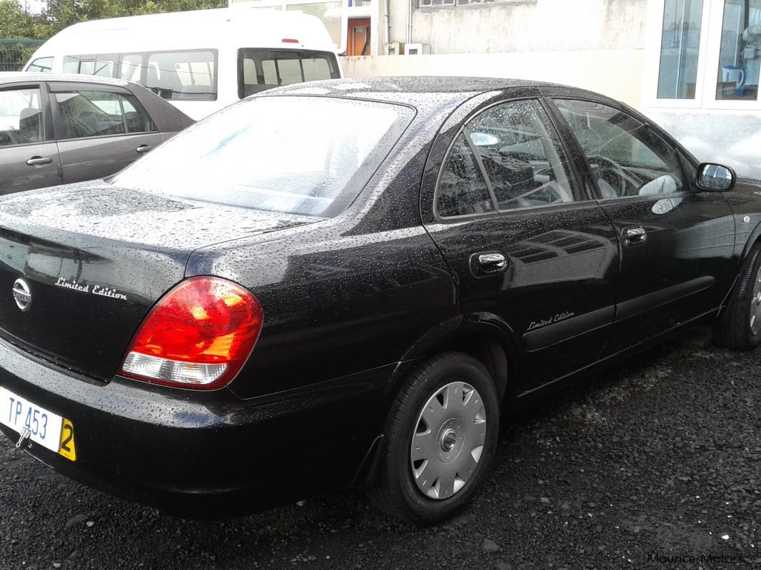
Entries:
<svg viewBox="0 0 761 570">
<path fill-rule="evenodd" d="M 486 408 L 465 382 L 450 382 L 422 407 L 412 435 L 409 463 L 418 489 L 448 499 L 473 477 L 486 442 Z"/>
</svg>

